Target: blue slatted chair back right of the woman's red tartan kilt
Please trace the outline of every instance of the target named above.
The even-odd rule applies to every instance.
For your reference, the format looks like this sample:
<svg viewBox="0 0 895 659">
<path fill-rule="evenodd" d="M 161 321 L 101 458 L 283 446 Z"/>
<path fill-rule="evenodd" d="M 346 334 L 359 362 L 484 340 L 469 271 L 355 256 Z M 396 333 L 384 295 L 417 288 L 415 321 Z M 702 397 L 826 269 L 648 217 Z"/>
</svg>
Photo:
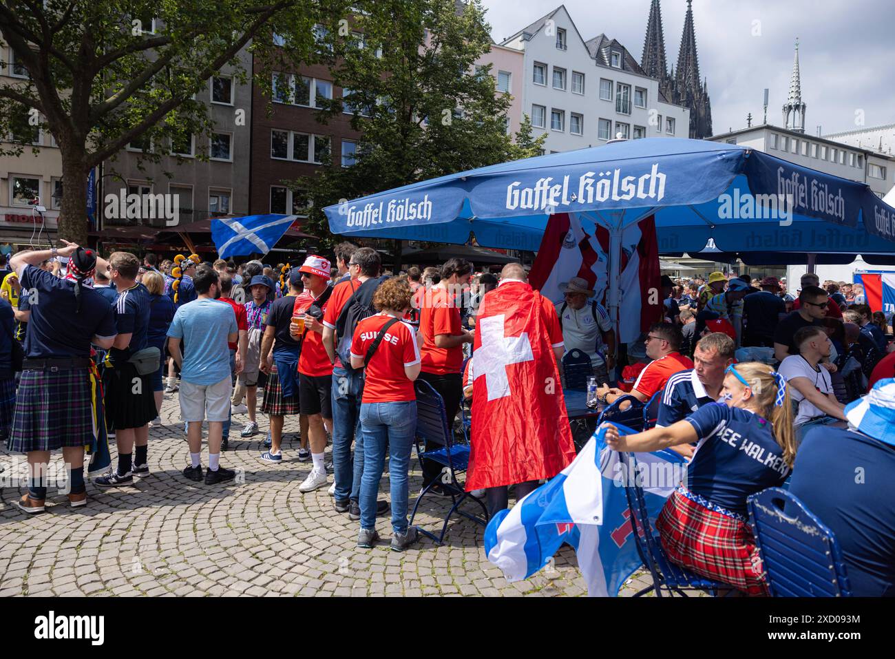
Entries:
<svg viewBox="0 0 895 659">
<path fill-rule="evenodd" d="M 802 501 L 770 487 L 746 505 L 771 596 L 851 596 L 836 536 Z"/>
</svg>

